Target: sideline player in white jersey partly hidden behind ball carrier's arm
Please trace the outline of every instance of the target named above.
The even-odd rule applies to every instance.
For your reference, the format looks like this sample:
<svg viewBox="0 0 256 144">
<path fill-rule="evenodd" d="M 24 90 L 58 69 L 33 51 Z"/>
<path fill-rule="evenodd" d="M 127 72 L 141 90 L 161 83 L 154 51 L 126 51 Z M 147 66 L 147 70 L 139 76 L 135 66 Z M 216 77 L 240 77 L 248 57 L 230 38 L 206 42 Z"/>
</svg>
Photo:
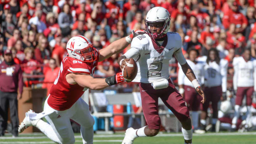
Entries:
<svg viewBox="0 0 256 144">
<path fill-rule="evenodd" d="M 198 57 L 199 52 L 197 49 L 191 48 L 188 50 L 188 58 L 187 63 L 190 65 L 191 69 L 194 71 L 194 74 L 196 75 L 196 78 L 198 79 L 199 83 L 203 85 L 204 83 L 204 62 L 199 62 L 196 60 Z M 181 69 L 181 65 L 178 64 L 179 70 L 178 70 L 178 85 L 179 85 L 179 92 L 181 96 L 184 98 L 184 100 L 187 103 L 187 107 L 189 111 L 191 112 L 192 116 L 192 124 L 194 126 L 194 129 L 198 129 L 198 119 L 199 119 L 199 107 L 200 107 L 200 101 L 202 100 L 202 97 L 197 93 L 197 91 L 194 90 L 194 87 L 190 80 L 186 77 L 186 75 L 183 73 Z"/>
</svg>

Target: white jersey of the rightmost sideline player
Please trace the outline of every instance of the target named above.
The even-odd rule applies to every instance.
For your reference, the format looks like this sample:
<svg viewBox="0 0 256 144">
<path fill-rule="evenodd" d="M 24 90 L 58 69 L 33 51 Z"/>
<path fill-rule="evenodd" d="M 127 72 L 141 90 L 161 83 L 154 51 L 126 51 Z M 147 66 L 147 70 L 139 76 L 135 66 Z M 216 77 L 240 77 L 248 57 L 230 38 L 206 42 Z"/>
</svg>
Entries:
<svg viewBox="0 0 256 144">
<path fill-rule="evenodd" d="M 233 76 L 234 89 L 254 86 L 254 91 L 256 91 L 256 60 L 250 59 L 246 62 L 243 57 L 235 57 L 233 66 L 235 71 Z"/>
</svg>

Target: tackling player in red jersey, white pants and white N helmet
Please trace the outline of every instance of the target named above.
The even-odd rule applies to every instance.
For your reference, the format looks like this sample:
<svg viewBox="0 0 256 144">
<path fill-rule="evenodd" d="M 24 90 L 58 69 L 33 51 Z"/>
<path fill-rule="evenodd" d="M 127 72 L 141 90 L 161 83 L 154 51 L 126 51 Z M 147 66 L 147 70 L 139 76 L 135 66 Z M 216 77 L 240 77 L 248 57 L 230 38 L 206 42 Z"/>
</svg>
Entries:
<svg viewBox="0 0 256 144">
<path fill-rule="evenodd" d="M 81 125 L 83 144 L 92 144 L 94 118 L 90 114 L 89 106 L 80 97 L 88 88 L 101 90 L 124 81 L 122 73 L 108 78 L 92 76 L 98 61 L 121 52 L 129 45 L 133 36 L 136 36 L 134 31 L 130 36 L 121 38 L 99 51 L 84 36 L 69 39 L 66 45 L 68 55 L 62 60 L 59 75 L 44 103 L 44 111 L 38 114 L 32 110 L 28 111 L 18 131 L 21 133 L 27 127 L 35 126 L 55 143 L 74 144 L 74 132 L 70 124 L 70 119 L 73 119 Z M 49 124 L 42 121 L 42 117 L 45 117 Z"/>
</svg>

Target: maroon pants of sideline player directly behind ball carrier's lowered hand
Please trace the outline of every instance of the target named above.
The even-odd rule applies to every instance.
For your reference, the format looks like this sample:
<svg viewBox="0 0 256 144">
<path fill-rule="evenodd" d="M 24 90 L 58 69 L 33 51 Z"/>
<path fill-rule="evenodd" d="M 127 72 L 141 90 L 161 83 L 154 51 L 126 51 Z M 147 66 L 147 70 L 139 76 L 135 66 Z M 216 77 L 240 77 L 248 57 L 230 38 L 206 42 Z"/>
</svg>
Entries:
<svg viewBox="0 0 256 144">
<path fill-rule="evenodd" d="M 194 87 L 184 85 L 184 99 L 187 102 L 188 110 L 198 111 L 203 99 Z"/>
</svg>

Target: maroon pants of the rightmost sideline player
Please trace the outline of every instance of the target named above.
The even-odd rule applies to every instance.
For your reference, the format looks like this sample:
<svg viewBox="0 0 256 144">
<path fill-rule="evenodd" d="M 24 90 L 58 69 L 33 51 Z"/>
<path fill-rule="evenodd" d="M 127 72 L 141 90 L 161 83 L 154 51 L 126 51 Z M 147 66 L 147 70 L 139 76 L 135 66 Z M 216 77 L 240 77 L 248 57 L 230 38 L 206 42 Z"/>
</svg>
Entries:
<svg viewBox="0 0 256 144">
<path fill-rule="evenodd" d="M 246 95 L 246 105 L 250 106 L 252 104 L 252 94 L 254 92 L 254 87 L 238 87 L 236 92 L 236 105 L 242 105 L 242 99 Z"/>
</svg>

